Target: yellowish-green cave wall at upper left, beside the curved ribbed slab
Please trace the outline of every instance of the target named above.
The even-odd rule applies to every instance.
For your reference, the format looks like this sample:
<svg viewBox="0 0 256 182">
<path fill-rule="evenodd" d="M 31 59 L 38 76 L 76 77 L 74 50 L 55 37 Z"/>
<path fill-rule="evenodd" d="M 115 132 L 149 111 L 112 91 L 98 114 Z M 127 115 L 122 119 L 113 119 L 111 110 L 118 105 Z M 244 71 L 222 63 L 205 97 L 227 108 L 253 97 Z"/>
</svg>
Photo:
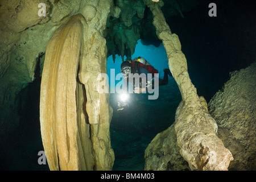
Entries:
<svg viewBox="0 0 256 182">
<path fill-rule="evenodd" d="M 46 17 L 38 16 L 39 3 L 46 4 Z M 5 138 L 6 133 L 19 125 L 17 97 L 20 90 L 35 80 L 36 67 L 42 73 L 40 64 L 43 65 L 44 59 L 38 64 L 38 58 L 46 52 L 53 32 L 67 19 L 51 20 L 53 15 L 61 16 L 63 11 L 53 6 L 53 1 L 2 1 L 1 5 L 0 135 Z"/>
</svg>

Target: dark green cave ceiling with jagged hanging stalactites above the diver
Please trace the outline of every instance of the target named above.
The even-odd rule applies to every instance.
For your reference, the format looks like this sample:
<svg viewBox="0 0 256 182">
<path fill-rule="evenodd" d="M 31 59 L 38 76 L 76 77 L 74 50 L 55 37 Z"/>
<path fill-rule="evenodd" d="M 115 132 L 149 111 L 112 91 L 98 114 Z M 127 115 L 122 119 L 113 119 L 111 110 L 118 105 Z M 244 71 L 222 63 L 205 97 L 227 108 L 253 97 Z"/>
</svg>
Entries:
<svg viewBox="0 0 256 182">
<path fill-rule="evenodd" d="M 182 12 L 191 10 L 199 3 L 200 0 L 165 0 L 162 11 L 166 19 L 174 15 L 184 17 Z M 162 43 L 155 34 L 152 13 L 142 0 L 115 0 L 104 36 L 108 47 L 108 56 L 112 55 L 113 61 L 115 61 L 115 55 L 121 56 L 122 60 L 125 59 L 125 56 L 130 59 L 139 39 L 146 46 L 152 44 L 159 47 Z"/>
</svg>

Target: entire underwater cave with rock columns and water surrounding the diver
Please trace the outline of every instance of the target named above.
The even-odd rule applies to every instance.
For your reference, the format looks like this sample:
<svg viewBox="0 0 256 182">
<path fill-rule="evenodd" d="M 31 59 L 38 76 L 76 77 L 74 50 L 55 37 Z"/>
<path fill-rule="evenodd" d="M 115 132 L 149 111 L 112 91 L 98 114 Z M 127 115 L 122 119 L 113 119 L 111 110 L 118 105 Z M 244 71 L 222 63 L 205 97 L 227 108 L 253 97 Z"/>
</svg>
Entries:
<svg viewBox="0 0 256 182">
<path fill-rule="evenodd" d="M 210 3 L 0 2 L 0 169 L 255 170 L 256 2 Z M 139 56 L 172 76 L 122 100 Z"/>
</svg>

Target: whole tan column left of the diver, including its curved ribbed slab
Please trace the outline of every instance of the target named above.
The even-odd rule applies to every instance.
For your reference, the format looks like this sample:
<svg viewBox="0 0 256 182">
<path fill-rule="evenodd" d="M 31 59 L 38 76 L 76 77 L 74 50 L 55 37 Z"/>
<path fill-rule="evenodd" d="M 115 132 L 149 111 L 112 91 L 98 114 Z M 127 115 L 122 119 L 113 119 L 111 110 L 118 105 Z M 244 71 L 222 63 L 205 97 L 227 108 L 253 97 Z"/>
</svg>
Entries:
<svg viewBox="0 0 256 182">
<path fill-rule="evenodd" d="M 109 134 L 113 110 L 108 94 L 99 93 L 97 88 L 101 81 L 97 80 L 98 74 L 106 73 L 102 31 L 111 3 L 86 1 L 82 15 L 72 16 L 47 44 L 40 125 L 51 170 L 113 167 Z"/>
</svg>

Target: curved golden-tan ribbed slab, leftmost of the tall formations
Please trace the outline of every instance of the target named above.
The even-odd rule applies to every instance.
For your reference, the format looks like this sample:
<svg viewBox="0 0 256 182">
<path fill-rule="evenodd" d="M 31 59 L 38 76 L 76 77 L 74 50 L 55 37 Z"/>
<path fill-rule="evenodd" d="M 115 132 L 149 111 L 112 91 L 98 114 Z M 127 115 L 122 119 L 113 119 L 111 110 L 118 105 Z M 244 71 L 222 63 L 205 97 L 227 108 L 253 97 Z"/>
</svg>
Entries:
<svg viewBox="0 0 256 182">
<path fill-rule="evenodd" d="M 73 16 L 58 28 L 47 44 L 40 93 L 40 123 L 51 170 L 80 168 L 75 91 L 83 31 L 81 20 L 81 16 Z"/>
</svg>

